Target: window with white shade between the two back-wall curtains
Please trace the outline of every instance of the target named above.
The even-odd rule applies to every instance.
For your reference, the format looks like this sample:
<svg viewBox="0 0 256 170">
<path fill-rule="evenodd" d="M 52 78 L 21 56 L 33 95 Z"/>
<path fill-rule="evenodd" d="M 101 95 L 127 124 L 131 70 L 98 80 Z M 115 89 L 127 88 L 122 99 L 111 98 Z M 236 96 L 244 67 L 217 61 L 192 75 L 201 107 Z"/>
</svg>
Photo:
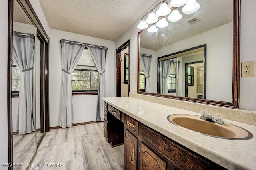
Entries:
<svg viewBox="0 0 256 170">
<path fill-rule="evenodd" d="M 88 50 L 84 50 L 71 73 L 73 95 L 98 94 L 100 74 Z"/>
</svg>

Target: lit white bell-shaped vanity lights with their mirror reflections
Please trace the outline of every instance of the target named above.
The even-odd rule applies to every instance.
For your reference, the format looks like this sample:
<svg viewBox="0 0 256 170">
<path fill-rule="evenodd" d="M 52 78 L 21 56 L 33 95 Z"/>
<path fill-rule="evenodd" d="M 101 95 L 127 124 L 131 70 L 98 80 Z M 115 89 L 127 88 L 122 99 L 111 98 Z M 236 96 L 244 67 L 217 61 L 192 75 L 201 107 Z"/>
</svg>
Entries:
<svg viewBox="0 0 256 170">
<path fill-rule="evenodd" d="M 159 4 L 160 4 L 160 6 L 155 14 L 153 11 L 158 7 Z M 183 5 L 185 5 L 185 6 L 183 6 Z M 150 11 L 146 12 L 146 14 L 144 14 L 144 16 L 141 18 L 140 23 L 138 24 L 137 28 L 145 29 L 145 28 L 148 28 L 148 24 L 154 24 L 157 22 L 156 24 L 154 24 L 153 26 L 148 28 L 148 32 L 157 32 L 158 29 L 156 28 L 156 26 L 158 28 L 164 28 L 164 27 L 168 26 L 169 23 L 166 21 L 166 18 L 164 18 L 164 17 L 170 13 L 171 14 L 167 17 L 167 19 L 169 21 L 176 22 L 176 21 L 181 20 L 182 15 L 176 9 L 177 7 L 180 7 L 180 6 L 183 6 L 182 12 L 184 14 L 192 14 L 192 13 L 198 11 L 200 8 L 200 4 L 198 4 L 196 2 L 196 0 L 171 0 L 169 5 L 166 3 L 166 0 L 163 0 L 162 2 L 159 2 L 158 4 L 156 4 L 152 10 L 150 10 Z M 172 11 L 171 8 L 174 10 Z M 147 14 L 148 14 L 148 18 L 146 18 L 146 20 L 144 20 L 144 18 Z M 159 16 L 161 16 L 161 20 L 158 21 Z"/>
</svg>

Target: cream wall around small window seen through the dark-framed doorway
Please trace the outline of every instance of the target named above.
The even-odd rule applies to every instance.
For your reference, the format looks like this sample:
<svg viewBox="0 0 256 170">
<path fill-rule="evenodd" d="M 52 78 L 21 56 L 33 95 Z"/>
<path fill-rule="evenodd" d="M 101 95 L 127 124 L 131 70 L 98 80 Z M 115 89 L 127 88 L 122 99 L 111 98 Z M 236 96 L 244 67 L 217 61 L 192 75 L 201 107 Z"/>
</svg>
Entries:
<svg viewBox="0 0 256 170">
<path fill-rule="evenodd" d="M 129 94 L 129 85 L 128 84 L 124 84 L 124 63 L 125 63 L 125 57 L 124 54 L 129 54 L 129 47 L 127 47 L 126 49 L 124 49 L 123 51 L 121 51 L 121 97 L 125 97 L 128 96 Z"/>
</svg>

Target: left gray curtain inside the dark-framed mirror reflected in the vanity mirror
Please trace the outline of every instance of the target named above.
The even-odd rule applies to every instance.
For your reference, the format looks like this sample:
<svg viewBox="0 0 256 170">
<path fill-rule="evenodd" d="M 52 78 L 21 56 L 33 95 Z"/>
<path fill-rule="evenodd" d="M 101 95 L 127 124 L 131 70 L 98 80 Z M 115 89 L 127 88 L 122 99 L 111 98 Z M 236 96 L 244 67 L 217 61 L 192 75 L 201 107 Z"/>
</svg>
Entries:
<svg viewBox="0 0 256 170">
<path fill-rule="evenodd" d="M 169 74 L 172 68 L 172 63 L 173 62 L 171 60 L 162 61 L 161 94 L 164 94 L 164 95 L 168 94 L 167 79 L 169 77 Z"/>
</svg>

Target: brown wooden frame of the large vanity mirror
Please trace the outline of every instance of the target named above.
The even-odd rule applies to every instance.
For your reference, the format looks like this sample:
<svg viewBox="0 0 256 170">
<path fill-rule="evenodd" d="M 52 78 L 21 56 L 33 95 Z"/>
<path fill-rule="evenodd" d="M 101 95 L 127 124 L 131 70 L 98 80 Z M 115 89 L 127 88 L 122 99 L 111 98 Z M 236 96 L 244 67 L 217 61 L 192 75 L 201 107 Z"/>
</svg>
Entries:
<svg viewBox="0 0 256 170">
<path fill-rule="evenodd" d="M 142 95 L 151 95 L 157 97 L 164 97 L 168 99 L 176 99 L 181 101 L 190 101 L 194 103 L 202 103 L 207 105 L 215 105 L 220 107 L 229 107 L 239 109 L 239 88 L 240 88 L 240 15 L 241 15 L 241 0 L 233 0 L 233 77 L 232 77 L 232 102 L 214 101 L 207 99 L 195 99 L 189 97 L 179 97 L 172 95 L 162 95 L 158 93 L 146 93 L 139 91 L 139 63 L 140 63 L 140 34 L 147 30 L 138 32 L 138 65 L 137 65 L 137 93 Z M 159 19 L 162 17 L 159 17 Z M 153 24 L 149 24 L 148 28 Z"/>
</svg>

